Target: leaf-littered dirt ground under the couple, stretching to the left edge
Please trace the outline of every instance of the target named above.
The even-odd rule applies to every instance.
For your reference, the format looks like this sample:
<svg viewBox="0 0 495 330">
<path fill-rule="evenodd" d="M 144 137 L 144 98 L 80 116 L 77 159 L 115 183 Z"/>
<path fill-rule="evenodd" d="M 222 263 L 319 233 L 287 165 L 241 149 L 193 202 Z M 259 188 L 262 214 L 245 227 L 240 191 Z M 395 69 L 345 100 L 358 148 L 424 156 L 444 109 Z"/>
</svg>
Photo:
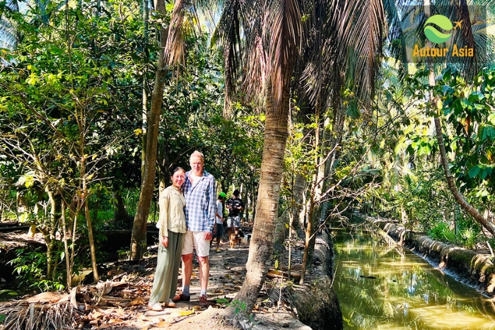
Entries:
<svg viewBox="0 0 495 330">
<path fill-rule="evenodd" d="M 250 228 L 243 228 L 245 233 Z M 162 312 L 148 310 L 148 298 L 156 269 L 156 247 L 150 255 L 139 264 L 121 261 L 105 264 L 100 272 L 102 280 L 97 285 L 81 285 L 74 290 L 73 305 L 77 305 L 79 329 L 111 329 L 111 330 L 148 330 L 148 329 L 204 329 L 232 330 L 231 319 L 225 319 L 221 309 L 228 305 L 240 290 L 245 278 L 245 263 L 248 259 L 248 246 L 231 249 L 225 237 L 221 242 L 221 252 L 211 249 L 210 278 L 208 296 L 211 306 L 206 309 L 199 306 L 199 276 L 197 259 L 194 257 L 192 283 L 190 286 L 191 301 L 177 303 L 176 308 L 165 308 Z M 91 274 L 88 275 L 90 278 Z M 180 289 L 181 277 L 177 281 Z M 252 311 L 254 319 L 248 323 L 252 329 L 310 329 L 293 317 L 290 307 L 280 309 L 278 294 L 271 294 L 274 282 L 267 281 Z M 278 292 L 278 289 L 276 289 Z M 42 295 L 46 295 L 43 293 Z M 40 295 L 40 297 L 42 297 Z M 46 300 L 40 300 L 47 308 L 62 309 L 69 304 L 70 295 L 57 293 Z M 30 308 L 29 303 L 35 297 L 26 297 L 23 301 L 0 304 L 0 314 L 10 311 L 21 315 Z M 276 298 L 274 298 L 276 297 Z M 27 300 L 30 299 L 30 300 Z M 56 300 L 59 299 L 59 302 Z M 235 302 L 234 302 L 235 303 Z M 57 307 L 57 304 L 59 304 Z M 33 305 L 33 304 L 31 304 Z M 66 305 L 63 305 L 66 308 Z M 75 309 L 74 309 L 75 310 Z M 41 313 L 40 313 L 41 314 Z M 46 310 L 45 310 L 46 314 Z M 16 329 L 25 329 L 19 324 Z M 4 330 L 0 324 L 0 330 Z"/>
</svg>

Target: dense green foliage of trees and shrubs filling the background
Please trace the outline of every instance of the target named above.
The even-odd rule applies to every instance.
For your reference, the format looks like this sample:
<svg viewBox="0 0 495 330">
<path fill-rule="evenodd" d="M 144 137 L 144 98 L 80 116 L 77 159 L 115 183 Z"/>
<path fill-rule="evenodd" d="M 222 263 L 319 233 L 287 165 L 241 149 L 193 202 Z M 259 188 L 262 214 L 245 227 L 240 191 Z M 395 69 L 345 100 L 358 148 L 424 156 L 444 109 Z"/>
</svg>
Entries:
<svg viewBox="0 0 495 330">
<path fill-rule="evenodd" d="M 143 8 L 128 0 L 50 1 L 28 4 L 25 13 L 2 8 L 18 37 L 9 44 L 15 47 L 1 49 L 0 216 L 33 225 L 48 250 L 46 255 L 18 252 L 11 264 L 23 285 L 62 288 L 67 277 L 90 264 L 90 232 L 99 245 L 105 241 L 103 230 L 129 228 L 141 189 L 150 105 L 144 96 L 152 93 L 157 31 L 169 27 L 173 9 L 167 4 L 164 15 L 153 12 L 144 22 Z M 303 17 L 303 23 L 311 23 Z M 332 26 L 322 30 L 330 33 Z M 221 59 L 228 45 L 216 45 L 218 35 L 198 31 L 184 31 L 187 57 L 179 67 L 165 69 L 149 221 L 156 220 L 159 184 L 170 184 L 173 167 L 188 169 L 190 153 L 199 150 L 219 191 L 241 189 L 244 218 L 252 223 L 266 141 L 264 110 L 270 104 L 261 94 L 247 100 L 242 90 L 225 102 L 226 73 L 238 78 L 234 85 L 252 83 L 250 93 L 260 92 L 260 86 Z M 481 228 L 461 211 L 445 184 L 431 118 L 438 116 L 445 127 L 460 191 L 493 220 L 495 68 L 468 79 L 447 66 L 436 72 L 432 88 L 429 69 L 418 66 L 404 78 L 387 59 L 380 63 L 378 87 L 363 100 L 353 78 L 332 90 L 332 77 L 344 76 L 338 70 L 315 83 L 313 71 L 321 58 L 311 53 L 313 48 L 298 63 L 304 74 L 285 75 L 281 84 L 290 94 L 290 116 L 275 210 L 284 224 L 280 236 L 290 230 L 297 239 L 314 240 L 327 221 L 359 210 L 398 218 L 439 240 L 467 246 L 482 240 Z M 336 59 L 347 63 L 356 60 L 353 56 Z M 430 90 L 438 99 L 435 109 L 429 107 Z M 100 252 L 96 257 L 102 262 L 107 256 Z M 64 266 L 69 272 L 60 270 Z"/>
</svg>

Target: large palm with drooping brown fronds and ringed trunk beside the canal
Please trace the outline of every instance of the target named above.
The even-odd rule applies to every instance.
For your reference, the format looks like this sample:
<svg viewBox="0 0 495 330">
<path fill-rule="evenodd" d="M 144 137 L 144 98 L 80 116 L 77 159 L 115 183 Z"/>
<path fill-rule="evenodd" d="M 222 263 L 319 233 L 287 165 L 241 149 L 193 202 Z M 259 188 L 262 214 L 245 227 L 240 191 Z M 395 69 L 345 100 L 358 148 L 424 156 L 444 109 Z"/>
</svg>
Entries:
<svg viewBox="0 0 495 330">
<path fill-rule="evenodd" d="M 371 100 L 384 14 L 376 0 L 233 0 L 224 8 L 218 34 L 228 91 L 242 88 L 251 98 L 261 94 L 266 112 L 248 272 L 236 297 L 250 310 L 272 258 L 291 82 L 304 81 L 320 109 L 339 103 L 346 77 L 362 81 L 356 92 Z"/>
</svg>

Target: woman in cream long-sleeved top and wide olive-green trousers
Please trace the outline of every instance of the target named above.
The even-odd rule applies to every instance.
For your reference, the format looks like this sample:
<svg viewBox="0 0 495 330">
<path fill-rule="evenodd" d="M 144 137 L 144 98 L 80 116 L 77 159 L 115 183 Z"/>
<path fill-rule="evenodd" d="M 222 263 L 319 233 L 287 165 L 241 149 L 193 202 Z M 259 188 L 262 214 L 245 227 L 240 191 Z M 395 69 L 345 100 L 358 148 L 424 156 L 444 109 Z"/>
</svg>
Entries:
<svg viewBox="0 0 495 330">
<path fill-rule="evenodd" d="M 175 307 L 172 298 L 177 288 L 180 252 L 186 232 L 185 199 L 180 190 L 184 179 L 185 170 L 176 167 L 172 174 L 172 185 L 163 189 L 160 194 L 160 218 L 156 223 L 156 228 L 160 230 L 160 244 L 153 289 L 148 302 L 148 308 L 157 312 L 162 310 L 160 302 L 165 302 L 165 307 Z"/>
</svg>

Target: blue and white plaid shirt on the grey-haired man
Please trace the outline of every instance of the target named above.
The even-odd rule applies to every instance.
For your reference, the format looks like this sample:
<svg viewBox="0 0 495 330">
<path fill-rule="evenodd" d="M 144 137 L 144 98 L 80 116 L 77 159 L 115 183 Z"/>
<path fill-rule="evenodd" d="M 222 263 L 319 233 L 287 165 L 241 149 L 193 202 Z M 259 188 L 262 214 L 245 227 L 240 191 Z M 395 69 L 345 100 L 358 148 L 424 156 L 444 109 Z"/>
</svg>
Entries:
<svg viewBox="0 0 495 330">
<path fill-rule="evenodd" d="M 212 232 L 216 213 L 216 184 L 213 175 L 203 170 L 203 176 L 192 187 L 186 173 L 182 189 L 186 199 L 185 216 L 187 230 L 193 232 Z"/>
</svg>

